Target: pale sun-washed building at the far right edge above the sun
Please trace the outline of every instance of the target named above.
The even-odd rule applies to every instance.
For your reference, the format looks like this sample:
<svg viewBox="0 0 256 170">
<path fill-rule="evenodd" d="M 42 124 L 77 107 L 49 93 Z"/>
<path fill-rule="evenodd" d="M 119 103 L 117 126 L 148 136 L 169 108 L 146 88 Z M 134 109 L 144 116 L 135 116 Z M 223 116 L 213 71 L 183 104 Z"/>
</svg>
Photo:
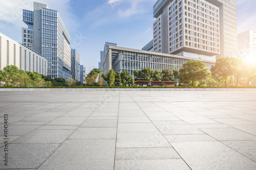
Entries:
<svg viewBox="0 0 256 170">
<path fill-rule="evenodd" d="M 256 32 L 238 34 L 238 57 L 256 63 Z"/>
</svg>

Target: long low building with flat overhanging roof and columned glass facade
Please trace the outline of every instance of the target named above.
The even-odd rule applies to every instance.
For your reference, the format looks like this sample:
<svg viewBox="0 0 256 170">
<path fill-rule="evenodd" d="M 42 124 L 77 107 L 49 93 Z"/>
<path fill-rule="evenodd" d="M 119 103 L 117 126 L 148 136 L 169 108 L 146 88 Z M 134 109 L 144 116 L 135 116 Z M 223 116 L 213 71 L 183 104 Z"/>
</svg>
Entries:
<svg viewBox="0 0 256 170">
<path fill-rule="evenodd" d="M 103 73 L 108 73 L 111 68 L 119 72 L 127 70 L 133 76 L 133 70 L 141 70 L 145 67 L 154 70 L 163 70 L 164 68 L 179 70 L 182 68 L 182 64 L 188 60 L 203 61 L 208 70 L 215 64 L 215 61 L 211 60 L 109 46 L 103 63 Z"/>
</svg>

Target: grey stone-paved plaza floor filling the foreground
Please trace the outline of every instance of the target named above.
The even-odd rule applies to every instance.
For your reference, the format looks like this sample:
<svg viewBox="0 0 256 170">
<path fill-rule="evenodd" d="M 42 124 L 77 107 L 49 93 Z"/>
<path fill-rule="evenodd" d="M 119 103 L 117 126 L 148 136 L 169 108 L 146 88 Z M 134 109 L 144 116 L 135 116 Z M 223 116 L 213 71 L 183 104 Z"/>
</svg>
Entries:
<svg viewBox="0 0 256 170">
<path fill-rule="evenodd" d="M 256 169 L 256 91 L 0 92 L 0 120 L 0 169 Z"/>
</svg>

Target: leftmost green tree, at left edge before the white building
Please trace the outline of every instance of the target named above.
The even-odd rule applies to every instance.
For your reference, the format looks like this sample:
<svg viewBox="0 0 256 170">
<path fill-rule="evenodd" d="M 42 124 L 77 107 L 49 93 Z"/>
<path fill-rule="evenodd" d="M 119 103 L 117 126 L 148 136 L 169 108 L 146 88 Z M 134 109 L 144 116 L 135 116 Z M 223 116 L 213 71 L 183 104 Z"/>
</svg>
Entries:
<svg viewBox="0 0 256 170">
<path fill-rule="evenodd" d="M 14 77 L 18 74 L 20 74 L 18 67 L 7 65 L 3 70 L 0 70 L 0 81 L 4 82 L 4 86 L 10 86 L 13 83 Z"/>
</svg>

